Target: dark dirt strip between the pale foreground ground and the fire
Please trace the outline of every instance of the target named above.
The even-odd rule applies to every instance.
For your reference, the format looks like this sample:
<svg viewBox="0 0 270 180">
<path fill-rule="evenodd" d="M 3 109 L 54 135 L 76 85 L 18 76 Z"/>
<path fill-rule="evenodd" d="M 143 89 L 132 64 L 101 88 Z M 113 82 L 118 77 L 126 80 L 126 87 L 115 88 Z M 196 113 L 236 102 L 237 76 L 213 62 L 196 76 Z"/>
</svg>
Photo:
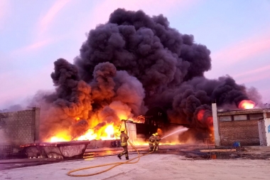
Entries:
<svg viewBox="0 0 270 180">
<path fill-rule="evenodd" d="M 147 153 L 147 146 L 137 147 L 140 153 Z M 216 149 L 213 145 L 205 144 L 178 144 L 178 145 L 160 145 L 158 152 L 153 154 L 174 154 L 185 157 L 190 160 L 205 159 L 266 159 L 270 160 L 270 147 L 239 147 L 236 152 L 200 152 L 202 149 Z M 233 147 L 220 147 L 218 149 L 235 149 Z M 100 148 L 87 149 L 85 158 L 116 156 L 121 152 L 121 148 Z M 136 154 L 136 151 L 129 147 L 129 154 Z M 76 159 L 74 159 L 76 160 Z M 80 159 L 77 159 L 80 160 Z M 76 160 L 76 161 L 77 161 Z M 38 166 L 42 164 L 52 164 L 66 162 L 64 159 L 0 159 L 0 171 L 4 169 L 15 169 L 25 166 Z"/>
</svg>

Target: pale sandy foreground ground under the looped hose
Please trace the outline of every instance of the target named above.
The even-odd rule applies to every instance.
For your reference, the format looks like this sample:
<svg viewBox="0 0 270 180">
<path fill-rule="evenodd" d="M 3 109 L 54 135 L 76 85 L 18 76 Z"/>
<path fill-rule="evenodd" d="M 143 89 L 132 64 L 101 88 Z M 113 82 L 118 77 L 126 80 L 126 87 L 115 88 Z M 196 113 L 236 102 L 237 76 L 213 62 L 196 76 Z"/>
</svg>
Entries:
<svg viewBox="0 0 270 180">
<path fill-rule="evenodd" d="M 130 158 L 133 157 L 136 157 L 136 154 L 130 155 Z M 66 175 L 72 169 L 124 161 L 114 156 L 28 166 L 0 171 L 0 179 L 270 179 L 270 160 L 194 160 L 173 154 L 149 154 L 141 157 L 136 164 L 123 164 L 95 176 Z M 106 168 L 88 169 L 75 174 L 90 174 Z"/>
</svg>

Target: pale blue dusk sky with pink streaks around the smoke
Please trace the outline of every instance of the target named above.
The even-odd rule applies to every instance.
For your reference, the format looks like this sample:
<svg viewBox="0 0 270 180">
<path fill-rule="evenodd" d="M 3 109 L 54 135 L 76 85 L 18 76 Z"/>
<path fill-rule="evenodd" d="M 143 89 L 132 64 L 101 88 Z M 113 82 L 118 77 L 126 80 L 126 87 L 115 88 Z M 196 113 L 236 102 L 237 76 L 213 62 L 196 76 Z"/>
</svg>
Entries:
<svg viewBox="0 0 270 180">
<path fill-rule="evenodd" d="M 0 0 L 0 110 L 53 90 L 53 62 L 73 62 L 87 32 L 117 8 L 163 14 L 211 51 L 210 79 L 230 75 L 270 102 L 269 0 Z"/>
</svg>

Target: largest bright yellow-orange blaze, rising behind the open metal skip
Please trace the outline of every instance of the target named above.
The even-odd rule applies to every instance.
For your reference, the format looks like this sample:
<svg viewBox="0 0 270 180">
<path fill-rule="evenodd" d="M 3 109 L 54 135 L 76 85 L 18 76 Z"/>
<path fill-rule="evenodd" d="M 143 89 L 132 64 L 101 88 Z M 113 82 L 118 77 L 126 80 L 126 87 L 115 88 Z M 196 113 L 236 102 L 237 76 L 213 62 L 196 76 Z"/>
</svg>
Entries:
<svg viewBox="0 0 270 180">
<path fill-rule="evenodd" d="M 104 119 L 105 117 L 103 117 L 102 115 L 102 109 L 97 112 L 92 112 L 89 119 L 85 118 L 87 117 L 87 115 L 85 115 L 85 117 L 83 117 L 82 115 L 75 115 L 73 117 L 74 122 L 72 125 L 76 125 L 76 123 L 82 120 L 82 118 L 88 122 L 89 129 L 87 129 L 87 132 L 85 132 L 85 134 L 82 134 L 82 136 L 80 137 L 73 137 L 75 133 L 71 134 L 72 129 L 59 129 L 59 132 L 54 132 L 54 134 L 52 134 L 53 137 L 46 140 L 50 142 L 57 142 L 71 140 L 119 139 L 119 125 L 121 124 L 121 120 L 131 120 L 133 122 L 136 122 L 137 120 L 136 118 L 132 118 L 134 117 L 134 115 L 131 113 L 131 108 L 123 102 L 114 101 L 109 105 L 109 108 L 114 110 L 114 113 L 115 115 L 117 115 L 118 118 L 112 117 L 112 120 L 108 119 L 109 122 L 107 122 L 107 120 Z M 77 128 L 76 126 L 73 127 Z M 80 128 L 80 126 L 78 127 Z M 85 129 L 83 130 L 85 131 Z"/>
</svg>

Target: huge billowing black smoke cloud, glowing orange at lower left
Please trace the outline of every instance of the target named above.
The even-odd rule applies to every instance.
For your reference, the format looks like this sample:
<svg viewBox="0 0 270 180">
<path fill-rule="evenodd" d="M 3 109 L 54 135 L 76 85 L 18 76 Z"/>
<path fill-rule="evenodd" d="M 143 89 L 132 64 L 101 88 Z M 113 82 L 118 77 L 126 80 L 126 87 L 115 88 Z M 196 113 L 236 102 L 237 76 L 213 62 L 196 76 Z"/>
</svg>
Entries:
<svg viewBox="0 0 270 180">
<path fill-rule="evenodd" d="M 171 28 L 163 15 L 117 9 L 88 33 L 74 64 L 55 61 L 56 91 L 42 98 L 53 105 L 45 129 L 98 129 L 118 122 L 121 113 L 144 115 L 156 106 L 174 122 L 209 129 L 211 100 L 236 107 L 249 99 L 244 85 L 229 76 L 205 78 L 210 69 L 210 50 L 195 43 L 193 35 Z M 75 117 L 87 123 L 73 125 Z"/>
</svg>

